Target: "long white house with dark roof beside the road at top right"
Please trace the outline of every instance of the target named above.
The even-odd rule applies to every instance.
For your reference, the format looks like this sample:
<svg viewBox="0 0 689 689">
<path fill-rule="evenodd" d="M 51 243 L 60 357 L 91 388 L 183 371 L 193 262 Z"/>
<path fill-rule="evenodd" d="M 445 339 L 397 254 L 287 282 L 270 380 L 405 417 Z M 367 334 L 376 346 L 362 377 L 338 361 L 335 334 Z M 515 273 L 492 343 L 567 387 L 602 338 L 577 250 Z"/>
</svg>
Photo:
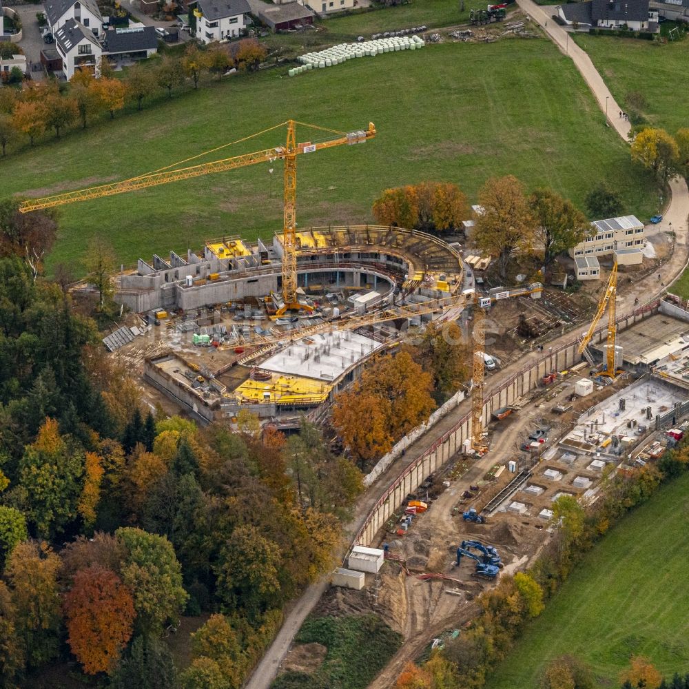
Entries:
<svg viewBox="0 0 689 689">
<path fill-rule="evenodd" d="M 559 17 L 579 28 L 629 29 L 658 32 L 658 13 L 649 0 L 588 0 L 557 8 Z"/>
</svg>

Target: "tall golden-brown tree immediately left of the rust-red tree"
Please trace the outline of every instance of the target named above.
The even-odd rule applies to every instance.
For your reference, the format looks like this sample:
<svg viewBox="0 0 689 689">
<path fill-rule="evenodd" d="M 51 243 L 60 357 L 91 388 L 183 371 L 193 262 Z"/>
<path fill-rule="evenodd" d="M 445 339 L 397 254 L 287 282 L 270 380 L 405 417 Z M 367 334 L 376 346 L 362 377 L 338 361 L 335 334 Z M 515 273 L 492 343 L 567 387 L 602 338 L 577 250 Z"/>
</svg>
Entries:
<svg viewBox="0 0 689 689">
<path fill-rule="evenodd" d="M 30 668 L 52 659 L 58 650 L 60 558 L 45 542 L 20 543 L 10 555 L 5 576 L 15 610 L 14 626 Z"/>
</svg>

